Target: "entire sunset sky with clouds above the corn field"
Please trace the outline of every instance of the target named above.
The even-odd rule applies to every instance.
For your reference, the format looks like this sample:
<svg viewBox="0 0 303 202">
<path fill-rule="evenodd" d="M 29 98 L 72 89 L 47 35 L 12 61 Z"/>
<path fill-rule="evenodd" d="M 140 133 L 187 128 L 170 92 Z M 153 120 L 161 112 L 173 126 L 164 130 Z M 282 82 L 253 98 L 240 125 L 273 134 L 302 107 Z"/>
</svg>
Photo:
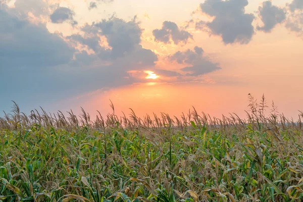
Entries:
<svg viewBox="0 0 303 202">
<path fill-rule="evenodd" d="M 302 54 L 302 0 L 0 0 L 0 110 L 296 119 Z"/>
</svg>

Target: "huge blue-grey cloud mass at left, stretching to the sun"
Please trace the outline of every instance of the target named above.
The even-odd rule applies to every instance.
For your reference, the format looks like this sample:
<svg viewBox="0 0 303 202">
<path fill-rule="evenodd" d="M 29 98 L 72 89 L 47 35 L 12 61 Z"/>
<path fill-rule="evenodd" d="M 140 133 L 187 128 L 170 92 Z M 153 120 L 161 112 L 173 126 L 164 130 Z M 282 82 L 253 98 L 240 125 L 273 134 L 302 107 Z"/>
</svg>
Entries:
<svg viewBox="0 0 303 202">
<path fill-rule="evenodd" d="M 104 87 L 146 82 L 130 77 L 127 71 L 152 70 L 158 60 L 140 45 L 141 28 L 135 21 L 112 18 L 82 27 L 83 35 L 65 38 L 49 33 L 43 24 L 24 20 L 15 11 L 0 7 L 0 74 L 5 75 L 0 80 L 2 109 L 9 109 L 10 100 L 33 108 Z M 95 53 L 72 48 L 69 43 L 74 41 Z"/>
</svg>

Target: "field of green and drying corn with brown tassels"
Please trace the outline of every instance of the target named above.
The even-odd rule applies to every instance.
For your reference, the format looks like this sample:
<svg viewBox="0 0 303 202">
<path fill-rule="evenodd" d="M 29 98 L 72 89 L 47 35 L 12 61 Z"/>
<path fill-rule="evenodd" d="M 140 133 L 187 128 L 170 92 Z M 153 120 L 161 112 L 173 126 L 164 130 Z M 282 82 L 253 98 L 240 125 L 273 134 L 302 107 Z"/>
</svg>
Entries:
<svg viewBox="0 0 303 202">
<path fill-rule="evenodd" d="M 303 201 L 303 125 L 266 108 L 140 119 L 16 105 L 0 119 L 0 201 Z"/>
</svg>

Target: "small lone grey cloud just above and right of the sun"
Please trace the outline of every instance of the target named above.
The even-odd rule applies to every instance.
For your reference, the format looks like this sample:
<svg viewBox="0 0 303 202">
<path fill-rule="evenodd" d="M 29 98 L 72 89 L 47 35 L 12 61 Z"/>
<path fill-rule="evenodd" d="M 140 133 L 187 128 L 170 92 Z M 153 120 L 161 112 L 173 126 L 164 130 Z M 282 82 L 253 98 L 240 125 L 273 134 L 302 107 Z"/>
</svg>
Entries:
<svg viewBox="0 0 303 202">
<path fill-rule="evenodd" d="M 170 21 L 163 22 L 162 28 L 155 29 L 153 35 L 155 41 L 162 41 L 164 43 L 169 43 L 170 39 L 175 44 L 179 44 L 179 42 L 186 43 L 188 39 L 192 39 L 192 35 L 189 32 L 180 30 L 176 23 Z"/>
</svg>

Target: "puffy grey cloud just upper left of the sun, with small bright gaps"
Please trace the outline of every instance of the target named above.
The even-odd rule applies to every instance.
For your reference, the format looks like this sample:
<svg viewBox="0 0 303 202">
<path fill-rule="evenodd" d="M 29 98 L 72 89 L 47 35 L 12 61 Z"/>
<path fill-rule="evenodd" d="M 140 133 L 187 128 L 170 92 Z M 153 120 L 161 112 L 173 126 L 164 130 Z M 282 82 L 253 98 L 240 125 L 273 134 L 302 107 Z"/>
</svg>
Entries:
<svg viewBox="0 0 303 202">
<path fill-rule="evenodd" d="M 83 36 L 76 34 L 69 38 L 93 49 L 100 59 L 112 62 L 116 60 L 123 67 L 136 69 L 154 66 L 158 60 L 155 53 L 140 45 L 142 29 L 135 19 L 128 22 L 119 18 L 102 20 L 91 25 L 86 24 L 82 31 L 85 33 Z M 102 45 L 105 42 L 110 48 Z"/>
</svg>

